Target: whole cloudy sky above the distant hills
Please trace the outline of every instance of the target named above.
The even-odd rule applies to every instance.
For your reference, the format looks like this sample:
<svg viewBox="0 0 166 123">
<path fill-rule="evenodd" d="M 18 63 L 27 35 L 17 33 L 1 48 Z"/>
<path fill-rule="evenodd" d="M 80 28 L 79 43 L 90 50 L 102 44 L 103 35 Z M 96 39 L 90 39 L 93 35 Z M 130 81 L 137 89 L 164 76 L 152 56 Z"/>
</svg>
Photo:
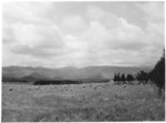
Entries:
<svg viewBox="0 0 166 123">
<path fill-rule="evenodd" d="M 2 65 L 155 65 L 164 2 L 3 2 Z"/>
</svg>

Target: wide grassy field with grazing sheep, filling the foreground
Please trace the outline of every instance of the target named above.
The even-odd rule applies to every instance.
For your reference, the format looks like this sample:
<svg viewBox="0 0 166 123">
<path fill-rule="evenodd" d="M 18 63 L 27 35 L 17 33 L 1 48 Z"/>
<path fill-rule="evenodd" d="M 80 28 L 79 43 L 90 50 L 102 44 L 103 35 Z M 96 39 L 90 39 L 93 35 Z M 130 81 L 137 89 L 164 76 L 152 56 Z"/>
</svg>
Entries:
<svg viewBox="0 0 166 123">
<path fill-rule="evenodd" d="M 164 120 L 164 101 L 149 84 L 2 85 L 2 122 Z"/>
</svg>

